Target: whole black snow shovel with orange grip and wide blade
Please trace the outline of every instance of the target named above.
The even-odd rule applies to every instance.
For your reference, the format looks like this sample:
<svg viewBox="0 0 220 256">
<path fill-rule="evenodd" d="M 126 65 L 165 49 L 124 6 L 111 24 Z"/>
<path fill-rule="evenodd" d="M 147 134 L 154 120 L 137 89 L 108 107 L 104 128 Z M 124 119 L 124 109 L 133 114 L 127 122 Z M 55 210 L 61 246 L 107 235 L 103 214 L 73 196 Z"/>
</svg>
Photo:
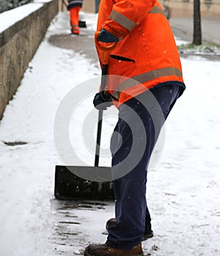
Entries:
<svg viewBox="0 0 220 256">
<path fill-rule="evenodd" d="M 109 53 L 117 43 L 113 43 L 108 47 L 100 45 L 97 37 L 99 32 L 95 33 L 95 45 L 103 52 L 102 59 L 102 76 L 101 76 L 101 91 L 105 91 L 106 75 L 108 72 Z M 99 167 L 100 154 L 100 138 L 103 120 L 103 110 L 98 111 L 98 130 L 95 148 L 95 166 L 60 166 L 55 169 L 55 189 L 54 195 L 58 200 L 114 200 L 114 191 L 111 181 L 111 167 Z M 91 176 L 91 179 L 85 180 L 77 173 L 86 173 Z M 98 177 L 99 182 L 94 181 Z M 103 179 L 102 179 L 103 178 Z M 92 180 L 92 181 L 91 181 Z M 103 180 L 103 182 L 100 182 Z"/>
</svg>

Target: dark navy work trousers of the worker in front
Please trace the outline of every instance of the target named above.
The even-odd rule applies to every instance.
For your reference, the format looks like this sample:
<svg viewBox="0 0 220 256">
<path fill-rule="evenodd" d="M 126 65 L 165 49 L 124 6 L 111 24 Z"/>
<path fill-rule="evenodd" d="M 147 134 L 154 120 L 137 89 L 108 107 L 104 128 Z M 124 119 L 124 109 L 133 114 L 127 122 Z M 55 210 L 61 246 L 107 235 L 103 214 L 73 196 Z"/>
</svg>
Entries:
<svg viewBox="0 0 220 256">
<path fill-rule="evenodd" d="M 169 112 L 180 96 L 177 84 L 164 84 L 131 98 L 119 108 L 111 137 L 116 223 L 106 241 L 117 249 L 131 249 L 150 230 L 147 209 L 147 165 Z"/>
</svg>

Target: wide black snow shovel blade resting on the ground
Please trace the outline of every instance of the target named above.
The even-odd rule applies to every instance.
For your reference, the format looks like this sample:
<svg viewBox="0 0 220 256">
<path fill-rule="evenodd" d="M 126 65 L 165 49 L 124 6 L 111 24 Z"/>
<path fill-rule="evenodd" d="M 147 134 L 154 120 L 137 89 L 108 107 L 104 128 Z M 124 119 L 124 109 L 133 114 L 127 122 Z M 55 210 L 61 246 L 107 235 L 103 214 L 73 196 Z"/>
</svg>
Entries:
<svg viewBox="0 0 220 256">
<path fill-rule="evenodd" d="M 91 175 L 88 177 L 88 174 Z M 112 183 L 106 181 L 111 180 L 108 175 L 111 175 L 111 167 L 56 165 L 54 195 L 58 200 L 114 200 Z"/>
</svg>

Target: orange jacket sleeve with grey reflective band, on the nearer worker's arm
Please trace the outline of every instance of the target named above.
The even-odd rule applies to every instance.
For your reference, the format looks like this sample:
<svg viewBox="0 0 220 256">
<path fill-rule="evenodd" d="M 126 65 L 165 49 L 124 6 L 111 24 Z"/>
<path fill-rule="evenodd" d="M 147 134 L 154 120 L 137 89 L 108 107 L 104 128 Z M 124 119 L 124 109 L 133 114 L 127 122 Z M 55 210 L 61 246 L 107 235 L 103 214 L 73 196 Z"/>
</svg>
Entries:
<svg viewBox="0 0 220 256">
<path fill-rule="evenodd" d="M 109 19 L 104 22 L 106 29 L 115 37 L 123 40 L 131 30 L 141 23 L 147 12 L 153 8 L 156 0 L 116 0 Z"/>
</svg>

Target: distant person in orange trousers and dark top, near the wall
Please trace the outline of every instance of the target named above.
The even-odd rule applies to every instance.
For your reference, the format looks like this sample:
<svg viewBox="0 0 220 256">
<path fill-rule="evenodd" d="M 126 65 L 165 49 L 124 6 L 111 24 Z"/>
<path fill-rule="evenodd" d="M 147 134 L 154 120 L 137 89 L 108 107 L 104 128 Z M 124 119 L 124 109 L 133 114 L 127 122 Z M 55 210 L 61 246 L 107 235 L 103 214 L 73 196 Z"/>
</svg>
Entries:
<svg viewBox="0 0 220 256">
<path fill-rule="evenodd" d="M 80 34 L 78 26 L 79 11 L 81 10 L 83 0 L 69 0 L 67 10 L 70 11 L 70 25 L 72 34 Z"/>
</svg>

